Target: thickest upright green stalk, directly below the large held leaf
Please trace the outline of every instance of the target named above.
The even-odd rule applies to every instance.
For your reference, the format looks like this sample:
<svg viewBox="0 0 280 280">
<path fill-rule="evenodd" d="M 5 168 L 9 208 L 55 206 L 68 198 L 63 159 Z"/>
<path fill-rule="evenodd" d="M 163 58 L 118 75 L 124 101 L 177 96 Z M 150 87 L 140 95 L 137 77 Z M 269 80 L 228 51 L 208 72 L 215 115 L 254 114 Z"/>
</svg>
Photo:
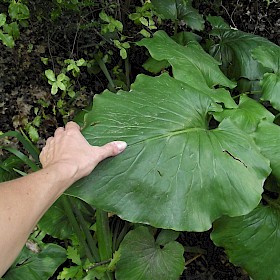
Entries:
<svg viewBox="0 0 280 280">
<path fill-rule="evenodd" d="M 112 235 L 109 227 L 108 213 L 96 209 L 96 235 L 98 240 L 98 249 L 101 261 L 106 261 L 112 258 Z M 113 279 L 110 272 L 106 273 L 105 279 Z"/>
</svg>

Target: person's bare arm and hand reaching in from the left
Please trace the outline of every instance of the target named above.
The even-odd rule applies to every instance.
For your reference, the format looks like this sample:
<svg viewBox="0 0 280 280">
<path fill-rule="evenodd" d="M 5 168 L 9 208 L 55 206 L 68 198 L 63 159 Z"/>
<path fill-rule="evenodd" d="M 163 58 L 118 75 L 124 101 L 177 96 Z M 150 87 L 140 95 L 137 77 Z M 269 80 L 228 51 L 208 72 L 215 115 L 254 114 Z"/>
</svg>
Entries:
<svg viewBox="0 0 280 280">
<path fill-rule="evenodd" d="M 43 169 L 0 184 L 0 277 L 13 263 L 39 219 L 74 182 L 107 157 L 126 148 L 123 141 L 91 146 L 80 127 L 69 122 L 46 141 Z"/>
</svg>

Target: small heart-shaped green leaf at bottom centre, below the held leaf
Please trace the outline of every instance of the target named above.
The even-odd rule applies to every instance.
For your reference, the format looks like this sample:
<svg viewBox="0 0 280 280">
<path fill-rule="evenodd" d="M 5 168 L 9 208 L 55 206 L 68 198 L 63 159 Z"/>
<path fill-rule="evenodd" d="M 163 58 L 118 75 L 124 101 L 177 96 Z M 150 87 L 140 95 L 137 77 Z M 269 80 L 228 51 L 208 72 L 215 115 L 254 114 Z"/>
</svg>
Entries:
<svg viewBox="0 0 280 280">
<path fill-rule="evenodd" d="M 116 267 L 119 280 L 176 280 L 185 266 L 184 247 L 180 243 L 161 244 L 143 226 L 125 236 L 120 253 Z"/>
</svg>

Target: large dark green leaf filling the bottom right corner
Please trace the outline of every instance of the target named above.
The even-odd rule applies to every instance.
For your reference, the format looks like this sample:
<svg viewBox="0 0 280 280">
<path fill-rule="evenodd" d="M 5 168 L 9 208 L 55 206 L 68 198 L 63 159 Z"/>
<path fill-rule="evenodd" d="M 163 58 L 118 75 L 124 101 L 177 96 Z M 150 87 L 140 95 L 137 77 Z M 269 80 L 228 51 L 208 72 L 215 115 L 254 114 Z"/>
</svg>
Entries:
<svg viewBox="0 0 280 280">
<path fill-rule="evenodd" d="M 277 280 L 280 275 L 279 206 L 258 206 L 250 214 L 214 223 L 211 234 L 225 248 L 232 263 L 242 266 L 254 280 Z"/>
</svg>

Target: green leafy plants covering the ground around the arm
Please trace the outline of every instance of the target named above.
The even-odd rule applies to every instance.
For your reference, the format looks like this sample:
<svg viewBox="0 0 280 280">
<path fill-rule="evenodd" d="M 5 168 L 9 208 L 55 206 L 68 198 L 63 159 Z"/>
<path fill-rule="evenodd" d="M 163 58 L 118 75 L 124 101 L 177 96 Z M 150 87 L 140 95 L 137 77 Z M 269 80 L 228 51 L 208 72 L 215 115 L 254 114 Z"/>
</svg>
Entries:
<svg viewBox="0 0 280 280">
<path fill-rule="evenodd" d="M 57 1 L 53 16 L 86 3 L 96 4 Z M 128 71 L 131 43 L 111 8 L 102 6 L 94 28 L 101 24 L 102 44 L 112 43 Z M 128 148 L 57 200 L 3 278 L 179 279 L 180 234 L 211 230 L 252 279 L 278 279 L 279 46 L 203 17 L 190 1 L 147 1 L 130 18 L 141 24 L 137 48 L 148 53 L 145 74 L 131 85 L 116 68 L 119 79 L 111 77 L 104 53 L 45 72 L 65 117 L 65 104 L 81 95 L 72 76 L 95 63 L 109 89 L 76 121 L 89 143 L 118 139 Z M 172 23 L 169 34 L 156 30 L 164 21 Z M 2 137 L 17 137 L 32 158 L 5 147 L 13 155 L 1 164 L 2 180 L 24 175 L 22 162 L 40 166 L 37 147 L 22 134 Z"/>
</svg>

